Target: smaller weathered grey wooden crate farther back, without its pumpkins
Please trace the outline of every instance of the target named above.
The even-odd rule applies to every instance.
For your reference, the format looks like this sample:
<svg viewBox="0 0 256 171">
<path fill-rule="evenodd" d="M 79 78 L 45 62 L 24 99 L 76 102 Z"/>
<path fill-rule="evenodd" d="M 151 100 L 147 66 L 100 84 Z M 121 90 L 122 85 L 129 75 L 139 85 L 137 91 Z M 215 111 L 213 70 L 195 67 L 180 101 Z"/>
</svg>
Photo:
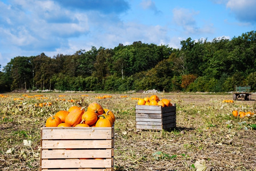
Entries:
<svg viewBox="0 0 256 171">
<path fill-rule="evenodd" d="M 176 127 L 176 106 L 136 105 L 136 129 L 171 129 Z"/>
</svg>

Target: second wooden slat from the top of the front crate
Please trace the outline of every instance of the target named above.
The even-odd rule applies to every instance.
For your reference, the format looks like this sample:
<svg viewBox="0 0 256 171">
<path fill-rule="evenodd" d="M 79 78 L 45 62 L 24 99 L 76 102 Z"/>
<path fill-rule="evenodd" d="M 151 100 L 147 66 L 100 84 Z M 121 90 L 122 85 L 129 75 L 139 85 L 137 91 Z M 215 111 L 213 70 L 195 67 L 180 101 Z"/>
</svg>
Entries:
<svg viewBox="0 0 256 171">
<path fill-rule="evenodd" d="M 42 149 L 111 148 L 113 140 L 43 140 Z"/>
</svg>

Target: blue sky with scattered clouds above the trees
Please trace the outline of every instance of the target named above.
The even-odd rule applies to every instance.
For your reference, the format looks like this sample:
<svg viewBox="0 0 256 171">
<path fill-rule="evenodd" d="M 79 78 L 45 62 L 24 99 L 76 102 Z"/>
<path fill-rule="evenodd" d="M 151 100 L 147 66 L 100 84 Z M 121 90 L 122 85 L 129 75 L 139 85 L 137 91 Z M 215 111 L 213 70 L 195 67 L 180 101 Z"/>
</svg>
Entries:
<svg viewBox="0 0 256 171">
<path fill-rule="evenodd" d="M 91 46 L 165 44 L 255 30 L 256 0 L 0 1 L 1 69 L 16 56 L 72 55 Z"/>
</svg>

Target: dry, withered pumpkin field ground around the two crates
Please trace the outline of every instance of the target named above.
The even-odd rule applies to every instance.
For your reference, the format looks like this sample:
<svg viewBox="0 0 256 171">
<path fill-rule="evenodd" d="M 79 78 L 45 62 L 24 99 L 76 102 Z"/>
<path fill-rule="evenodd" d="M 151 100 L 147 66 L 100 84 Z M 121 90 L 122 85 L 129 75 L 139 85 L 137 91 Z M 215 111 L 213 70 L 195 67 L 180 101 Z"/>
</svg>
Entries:
<svg viewBox="0 0 256 171">
<path fill-rule="evenodd" d="M 165 93 L 177 105 L 177 128 L 170 131 L 137 131 L 135 104 L 131 97 L 150 95 L 65 94 L 66 101 L 56 101 L 60 94 L 41 93 L 47 99 L 9 93 L 0 97 L 0 170 L 38 170 L 40 129 L 47 117 L 77 103 L 85 106 L 98 101 L 115 113 L 115 170 L 255 170 L 256 131 L 250 127 L 256 117 L 234 118 L 231 112 L 256 111 L 255 101 L 223 103 L 232 95 L 206 93 Z M 34 94 L 29 94 L 29 96 Z M 23 100 L 13 100 L 15 97 Z M 73 99 L 75 103 L 67 100 Z M 253 95 L 252 99 L 256 99 Z M 51 106 L 35 107 L 35 103 Z M 24 145 L 23 140 L 31 140 Z"/>
</svg>

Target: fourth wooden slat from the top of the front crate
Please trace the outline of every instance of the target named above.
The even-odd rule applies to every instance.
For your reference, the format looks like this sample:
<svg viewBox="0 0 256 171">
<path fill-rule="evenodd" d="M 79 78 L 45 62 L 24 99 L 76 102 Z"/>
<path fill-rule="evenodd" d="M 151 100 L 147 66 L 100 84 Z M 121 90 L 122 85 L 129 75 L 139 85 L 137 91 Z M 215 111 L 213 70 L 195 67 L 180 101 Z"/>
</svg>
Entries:
<svg viewBox="0 0 256 171">
<path fill-rule="evenodd" d="M 42 160 L 42 169 L 47 168 L 111 168 L 112 162 L 110 159 L 105 160 Z"/>
</svg>

